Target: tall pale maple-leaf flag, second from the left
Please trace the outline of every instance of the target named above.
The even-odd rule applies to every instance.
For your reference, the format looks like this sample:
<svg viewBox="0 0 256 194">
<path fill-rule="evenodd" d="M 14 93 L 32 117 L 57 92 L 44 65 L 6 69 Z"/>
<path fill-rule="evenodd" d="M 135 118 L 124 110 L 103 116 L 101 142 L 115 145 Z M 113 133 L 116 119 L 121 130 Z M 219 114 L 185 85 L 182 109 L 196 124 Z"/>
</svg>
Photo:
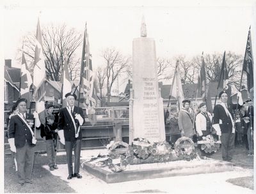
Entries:
<svg viewBox="0 0 256 194">
<path fill-rule="evenodd" d="M 33 73 L 33 85 L 35 89 L 35 101 L 36 101 L 36 112 L 42 112 L 42 108 L 44 110 L 44 106 L 40 102 L 42 98 L 45 96 L 45 62 L 44 62 L 44 54 L 42 47 L 42 33 L 40 29 L 40 23 L 38 19 L 37 29 L 36 29 L 36 47 L 35 47 L 35 67 Z M 39 103 L 40 102 L 40 103 Z"/>
</svg>

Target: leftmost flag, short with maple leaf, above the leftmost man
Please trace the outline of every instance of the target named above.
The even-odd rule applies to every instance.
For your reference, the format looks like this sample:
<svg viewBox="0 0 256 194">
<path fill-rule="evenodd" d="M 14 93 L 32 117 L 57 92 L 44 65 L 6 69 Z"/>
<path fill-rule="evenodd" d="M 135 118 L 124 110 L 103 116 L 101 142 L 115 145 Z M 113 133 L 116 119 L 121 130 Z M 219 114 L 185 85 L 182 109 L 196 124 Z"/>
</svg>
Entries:
<svg viewBox="0 0 256 194">
<path fill-rule="evenodd" d="M 20 98 L 26 98 L 28 105 L 30 105 L 29 89 L 33 83 L 31 75 L 28 70 L 28 65 L 24 53 L 22 52 L 21 68 L 20 68 Z"/>
</svg>

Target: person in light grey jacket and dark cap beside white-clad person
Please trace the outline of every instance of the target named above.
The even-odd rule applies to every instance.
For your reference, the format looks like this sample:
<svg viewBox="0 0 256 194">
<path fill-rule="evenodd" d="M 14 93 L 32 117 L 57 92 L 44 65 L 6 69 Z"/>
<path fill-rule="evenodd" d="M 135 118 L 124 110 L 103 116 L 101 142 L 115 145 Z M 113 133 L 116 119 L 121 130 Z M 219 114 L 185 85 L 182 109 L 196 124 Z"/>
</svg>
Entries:
<svg viewBox="0 0 256 194">
<path fill-rule="evenodd" d="M 189 137 L 193 139 L 195 135 L 195 130 L 193 128 L 193 113 L 189 108 L 191 101 L 183 100 L 182 108 L 179 112 L 179 129 L 182 136 Z"/>
</svg>

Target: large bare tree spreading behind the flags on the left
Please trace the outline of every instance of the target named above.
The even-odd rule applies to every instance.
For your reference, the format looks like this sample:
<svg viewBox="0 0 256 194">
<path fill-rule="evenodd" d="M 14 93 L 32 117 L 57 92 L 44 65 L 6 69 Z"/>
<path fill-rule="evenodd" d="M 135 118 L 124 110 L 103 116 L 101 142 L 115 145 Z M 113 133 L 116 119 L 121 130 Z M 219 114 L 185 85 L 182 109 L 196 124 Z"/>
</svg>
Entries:
<svg viewBox="0 0 256 194">
<path fill-rule="evenodd" d="M 42 29 L 42 41 L 45 56 L 45 68 L 47 78 L 60 81 L 64 58 L 67 56 L 70 79 L 79 77 L 79 60 L 76 59 L 75 51 L 81 45 L 83 36 L 74 28 L 67 29 L 65 25 L 51 26 Z M 24 36 L 24 48 L 29 68 L 33 70 L 35 54 L 35 35 L 29 33 Z M 21 56 L 21 55 L 20 55 Z"/>
</svg>

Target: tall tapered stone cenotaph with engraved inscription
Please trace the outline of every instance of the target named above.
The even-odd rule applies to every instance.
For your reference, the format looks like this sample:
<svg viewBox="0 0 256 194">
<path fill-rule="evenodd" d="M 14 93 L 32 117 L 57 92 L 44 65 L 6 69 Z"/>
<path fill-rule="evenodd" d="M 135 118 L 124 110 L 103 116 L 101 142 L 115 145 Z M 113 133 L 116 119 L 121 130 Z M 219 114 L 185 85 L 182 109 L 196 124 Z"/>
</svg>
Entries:
<svg viewBox="0 0 256 194">
<path fill-rule="evenodd" d="M 156 44 L 147 38 L 145 19 L 141 37 L 132 42 L 132 89 L 129 103 L 129 143 L 134 138 L 165 140 L 163 98 L 157 80 Z"/>
</svg>

